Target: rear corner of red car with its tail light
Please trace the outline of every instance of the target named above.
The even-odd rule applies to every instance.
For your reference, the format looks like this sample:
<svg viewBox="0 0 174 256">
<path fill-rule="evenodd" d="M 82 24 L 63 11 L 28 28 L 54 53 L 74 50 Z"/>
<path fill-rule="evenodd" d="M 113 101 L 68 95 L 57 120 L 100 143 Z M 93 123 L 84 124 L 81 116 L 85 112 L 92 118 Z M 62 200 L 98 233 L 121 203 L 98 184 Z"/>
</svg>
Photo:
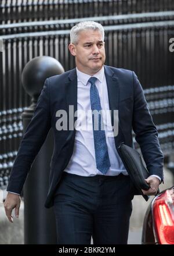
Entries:
<svg viewBox="0 0 174 256">
<path fill-rule="evenodd" d="M 174 244 L 174 187 L 151 201 L 144 217 L 142 244 Z"/>
</svg>

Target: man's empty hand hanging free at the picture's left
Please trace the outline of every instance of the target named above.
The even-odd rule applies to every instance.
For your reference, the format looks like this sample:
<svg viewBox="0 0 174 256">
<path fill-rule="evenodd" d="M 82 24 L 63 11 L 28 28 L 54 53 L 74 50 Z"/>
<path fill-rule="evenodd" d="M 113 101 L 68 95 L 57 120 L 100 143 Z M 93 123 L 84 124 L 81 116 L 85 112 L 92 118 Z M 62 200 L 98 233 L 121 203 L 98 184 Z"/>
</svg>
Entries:
<svg viewBox="0 0 174 256">
<path fill-rule="evenodd" d="M 16 218 L 19 217 L 19 208 L 20 208 L 21 198 L 20 195 L 8 193 L 6 200 L 4 202 L 5 214 L 10 222 L 13 222 L 12 211 L 14 209 L 14 214 Z"/>
</svg>

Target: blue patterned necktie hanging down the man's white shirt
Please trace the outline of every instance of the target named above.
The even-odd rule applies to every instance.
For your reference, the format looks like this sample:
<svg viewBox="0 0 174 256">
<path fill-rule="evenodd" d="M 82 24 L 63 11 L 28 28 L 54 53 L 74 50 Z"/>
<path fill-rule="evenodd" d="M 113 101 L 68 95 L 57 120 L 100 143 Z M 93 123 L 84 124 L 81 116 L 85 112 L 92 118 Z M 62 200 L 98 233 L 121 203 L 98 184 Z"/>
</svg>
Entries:
<svg viewBox="0 0 174 256">
<path fill-rule="evenodd" d="M 92 111 L 102 111 L 101 104 L 100 104 L 100 97 L 99 97 L 99 91 L 97 90 L 97 87 L 95 85 L 96 77 L 90 77 L 88 80 L 91 84 L 90 86 L 90 104 Z M 92 115 L 92 123 L 93 123 L 93 139 L 95 144 L 95 156 L 96 156 L 96 167 L 100 172 L 103 174 L 106 174 L 108 169 L 110 168 L 110 159 L 108 157 L 108 150 L 107 150 L 107 144 L 106 144 L 106 137 L 105 137 L 105 131 L 102 130 L 102 118 L 99 114 L 99 123 L 97 124 L 99 129 L 95 130 L 94 127 L 96 127 L 96 124 L 94 123 L 94 115 Z"/>
</svg>

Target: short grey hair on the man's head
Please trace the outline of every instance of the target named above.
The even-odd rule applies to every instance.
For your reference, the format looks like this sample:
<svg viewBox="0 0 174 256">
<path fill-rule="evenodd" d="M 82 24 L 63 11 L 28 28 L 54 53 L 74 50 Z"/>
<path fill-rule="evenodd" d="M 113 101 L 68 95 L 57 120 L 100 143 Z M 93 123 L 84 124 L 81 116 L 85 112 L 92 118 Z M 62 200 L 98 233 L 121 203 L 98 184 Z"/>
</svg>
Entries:
<svg viewBox="0 0 174 256">
<path fill-rule="evenodd" d="M 79 22 L 74 27 L 72 27 L 70 31 L 71 44 L 77 44 L 79 32 L 81 32 L 82 30 L 88 30 L 88 29 L 99 30 L 100 33 L 102 34 L 102 39 L 104 41 L 103 26 L 100 23 L 88 21 L 88 22 Z"/>
</svg>

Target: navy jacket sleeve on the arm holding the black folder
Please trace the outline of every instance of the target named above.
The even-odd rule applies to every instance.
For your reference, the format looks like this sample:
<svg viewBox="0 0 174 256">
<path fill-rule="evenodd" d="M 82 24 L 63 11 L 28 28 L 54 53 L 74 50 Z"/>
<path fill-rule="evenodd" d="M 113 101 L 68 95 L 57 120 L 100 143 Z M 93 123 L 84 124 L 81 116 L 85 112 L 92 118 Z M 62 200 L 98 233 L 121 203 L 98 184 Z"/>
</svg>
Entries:
<svg viewBox="0 0 174 256">
<path fill-rule="evenodd" d="M 160 176 L 163 182 L 164 155 L 160 148 L 157 128 L 148 109 L 143 88 L 134 72 L 132 72 L 132 76 L 134 87 L 132 126 L 135 132 L 135 140 L 140 145 L 148 172 L 150 172 L 150 175 Z"/>
</svg>

